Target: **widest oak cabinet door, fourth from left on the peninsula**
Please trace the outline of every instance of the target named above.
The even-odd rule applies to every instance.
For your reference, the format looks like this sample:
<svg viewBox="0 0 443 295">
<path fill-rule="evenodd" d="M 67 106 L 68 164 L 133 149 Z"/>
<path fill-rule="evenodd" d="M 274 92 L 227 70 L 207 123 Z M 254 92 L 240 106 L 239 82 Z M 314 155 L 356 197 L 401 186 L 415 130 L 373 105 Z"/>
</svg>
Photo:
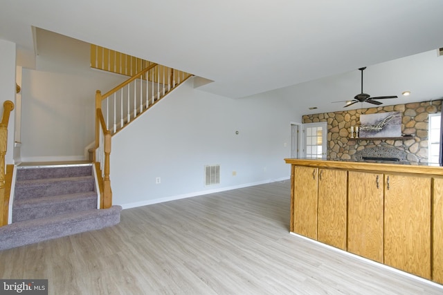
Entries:
<svg viewBox="0 0 443 295">
<path fill-rule="evenodd" d="M 431 278 L 431 178 L 385 175 L 384 261 Z"/>
</svg>

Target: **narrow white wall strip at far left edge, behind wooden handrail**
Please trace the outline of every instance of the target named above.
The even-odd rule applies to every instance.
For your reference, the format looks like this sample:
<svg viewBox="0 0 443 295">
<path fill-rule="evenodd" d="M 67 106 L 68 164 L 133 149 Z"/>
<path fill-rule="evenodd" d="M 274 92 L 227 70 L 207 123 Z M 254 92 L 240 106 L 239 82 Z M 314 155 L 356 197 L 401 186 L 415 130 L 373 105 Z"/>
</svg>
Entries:
<svg viewBox="0 0 443 295">
<path fill-rule="evenodd" d="M 0 39 L 0 114 L 3 114 L 3 102 L 10 100 L 15 104 L 15 43 Z M 1 117 L 1 115 L 0 115 Z M 8 124 L 8 146 L 6 164 L 13 164 L 14 155 L 15 111 L 10 113 Z"/>
</svg>

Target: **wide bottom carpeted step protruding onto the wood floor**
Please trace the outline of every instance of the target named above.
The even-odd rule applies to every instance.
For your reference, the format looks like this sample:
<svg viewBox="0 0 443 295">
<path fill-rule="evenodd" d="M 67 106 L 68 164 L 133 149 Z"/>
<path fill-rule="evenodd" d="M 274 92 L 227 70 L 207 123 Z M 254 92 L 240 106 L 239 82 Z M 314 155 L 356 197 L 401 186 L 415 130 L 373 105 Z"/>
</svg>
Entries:
<svg viewBox="0 0 443 295">
<path fill-rule="evenodd" d="M 0 227 L 0 250 L 116 225 L 121 209 L 112 206 L 14 222 Z"/>
</svg>

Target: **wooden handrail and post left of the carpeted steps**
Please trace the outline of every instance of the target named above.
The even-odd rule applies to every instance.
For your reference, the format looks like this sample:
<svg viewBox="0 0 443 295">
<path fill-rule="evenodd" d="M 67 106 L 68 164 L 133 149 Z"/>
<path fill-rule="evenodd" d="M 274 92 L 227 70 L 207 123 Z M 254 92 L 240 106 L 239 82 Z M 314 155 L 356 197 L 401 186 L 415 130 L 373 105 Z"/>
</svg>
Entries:
<svg viewBox="0 0 443 295">
<path fill-rule="evenodd" d="M 10 100 L 3 102 L 3 115 L 0 122 L 0 226 L 8 224 L 9 193 L 6 193 L 5 155 L 8 146 L 8 124 L 10 112 L 14 103 Z M 11 178 L 12 180 L 12 178 Z M 5 221 L 6 220 L 6 221 Z"/>
</svg>

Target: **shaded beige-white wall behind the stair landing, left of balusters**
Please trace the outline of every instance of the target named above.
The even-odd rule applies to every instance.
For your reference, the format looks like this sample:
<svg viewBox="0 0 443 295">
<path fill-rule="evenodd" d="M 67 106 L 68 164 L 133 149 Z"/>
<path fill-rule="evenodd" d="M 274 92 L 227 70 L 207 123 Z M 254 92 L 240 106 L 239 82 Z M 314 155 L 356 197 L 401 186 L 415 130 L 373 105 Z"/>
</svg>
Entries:
<svg viewBox="0 0 443 295">
<path fill-rule="evenodd" d="M 89 44 L 37 30 L 37 70 L 23 70 L 21 160 L 84 160 L 95 136 L 96 90 L 127 77 L 89 68 Z"/>
</svg>

